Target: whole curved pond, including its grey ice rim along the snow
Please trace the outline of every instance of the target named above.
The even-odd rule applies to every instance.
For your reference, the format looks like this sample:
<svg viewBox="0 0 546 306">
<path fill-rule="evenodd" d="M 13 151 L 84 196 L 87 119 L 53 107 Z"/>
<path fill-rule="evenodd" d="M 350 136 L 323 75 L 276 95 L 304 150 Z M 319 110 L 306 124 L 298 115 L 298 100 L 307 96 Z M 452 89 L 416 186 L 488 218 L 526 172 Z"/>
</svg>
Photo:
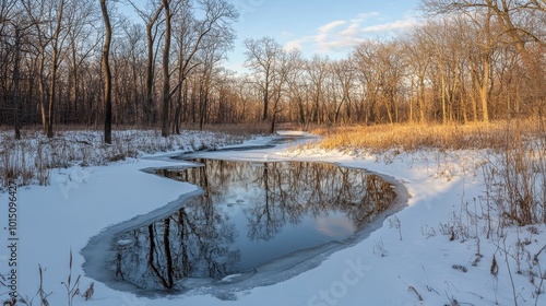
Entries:
<svg viewBox="0 0 546 306">
<path fill-rule="evenodd" d="M 405 201 L 400 184 L 364 169 L 186 157 L 192 164 L 146 170 L 201 190 L 93 237 L 82 250 L 90 276 L 145 295 L 223 298 L 314 267 Z"/>
</svg>

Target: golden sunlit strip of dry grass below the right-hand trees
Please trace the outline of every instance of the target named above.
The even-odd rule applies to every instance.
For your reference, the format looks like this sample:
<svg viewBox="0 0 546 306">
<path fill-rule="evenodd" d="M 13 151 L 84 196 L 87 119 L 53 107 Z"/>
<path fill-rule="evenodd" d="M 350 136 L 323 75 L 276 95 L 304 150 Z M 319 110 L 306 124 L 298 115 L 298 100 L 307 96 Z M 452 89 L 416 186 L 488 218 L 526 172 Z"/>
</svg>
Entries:
<svg viewBox="0 0 546 306">
<path fill-rule="evenodd" d="M 323 136 L 318 143 L 323 149 L 363 149 L 379 153 L 392 149 L 406 152 L 422 149 L 502 150 L 520 134 L 541 136 L 536 121 L 522 121 L 518 127 L 509 122 L 470 125 L 384 125 L 371 127 L 341 127 L 316 129 L 313 133 Z"/>
</svg>

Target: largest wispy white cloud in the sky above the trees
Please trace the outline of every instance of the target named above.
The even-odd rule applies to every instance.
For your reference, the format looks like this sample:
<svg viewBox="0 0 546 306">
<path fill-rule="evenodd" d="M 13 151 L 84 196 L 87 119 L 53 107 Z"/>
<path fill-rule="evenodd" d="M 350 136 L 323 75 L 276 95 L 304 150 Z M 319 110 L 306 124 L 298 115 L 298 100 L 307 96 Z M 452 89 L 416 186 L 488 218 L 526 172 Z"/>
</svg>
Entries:
<svg viewBox="0 0 546 306">
<path fill-rule="evenodd" d="M 358 45 L 366 37 L 372 35 L 394 35 L 412 28 L 417 21 L 406 16 L 389 23 L 369 25 L 370 20 L 380 21 L 381 14 L 369 12 L 358 14 L 347 21 L 339 20 L 327 23 L 316 30 L 313 35 L 299 37 L 285 44 L 285 49 L 312 50 L 313 52 L 330 52 L 346 50 Z"/>
</svg>

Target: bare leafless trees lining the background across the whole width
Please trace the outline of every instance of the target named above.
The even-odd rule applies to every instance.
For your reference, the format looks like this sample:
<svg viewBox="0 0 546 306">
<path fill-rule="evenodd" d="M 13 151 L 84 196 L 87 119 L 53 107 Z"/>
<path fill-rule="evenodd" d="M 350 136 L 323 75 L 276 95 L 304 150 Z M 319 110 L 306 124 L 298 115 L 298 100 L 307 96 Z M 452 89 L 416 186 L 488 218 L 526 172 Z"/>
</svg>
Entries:
<svg viewBox="0 0 546 306">
<path fill-rule="evenodd" d="M 245 40 L 248 73 L 225 66 L 239 13 L 227 0 L 3 0 L 0 126 L 157 127 L 470 122 L 539 116 L 544 0 L 423 0 L 396 37 L 343 59 Z"/>
</svg>

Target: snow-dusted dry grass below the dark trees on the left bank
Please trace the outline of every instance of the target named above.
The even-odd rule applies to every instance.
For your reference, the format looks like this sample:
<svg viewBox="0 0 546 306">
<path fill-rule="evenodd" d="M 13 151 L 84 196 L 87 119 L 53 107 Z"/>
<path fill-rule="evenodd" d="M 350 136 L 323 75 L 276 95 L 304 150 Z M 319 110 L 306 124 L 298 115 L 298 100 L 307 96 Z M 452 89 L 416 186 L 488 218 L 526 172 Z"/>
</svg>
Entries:
<svg viewBox="0 0 546 306">
<path fill-rule="evenodd" d="M 116 130 L 114 143 L 103 143 L 102 131 L 57 131 L 47 139 L 41 131 L 25 130 L 22 140 L 0 131 L 0 192 L 10 181 L 20 186 L 49 185 L 50 169 L 79 165 L 98 166 L 167 151 L 214 150 L 238 144 L 248 134 L 190 131 L 162 138 L 157 130 Z"/>
</svg>

